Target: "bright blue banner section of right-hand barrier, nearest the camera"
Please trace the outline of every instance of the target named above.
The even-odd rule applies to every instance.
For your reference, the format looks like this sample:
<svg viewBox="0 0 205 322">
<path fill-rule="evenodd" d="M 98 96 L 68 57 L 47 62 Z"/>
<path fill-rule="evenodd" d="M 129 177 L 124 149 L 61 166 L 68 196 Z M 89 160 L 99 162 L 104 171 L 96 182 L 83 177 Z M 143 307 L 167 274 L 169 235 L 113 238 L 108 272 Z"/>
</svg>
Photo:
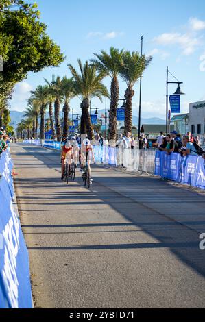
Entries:
<svg viewBox="0 0 205 322">
<path fill-rule="evenodd" d="M 205 189 L 205 160 L 201 156 L 180 156 L 156 151 L 155 175 Z"/>
</svg>

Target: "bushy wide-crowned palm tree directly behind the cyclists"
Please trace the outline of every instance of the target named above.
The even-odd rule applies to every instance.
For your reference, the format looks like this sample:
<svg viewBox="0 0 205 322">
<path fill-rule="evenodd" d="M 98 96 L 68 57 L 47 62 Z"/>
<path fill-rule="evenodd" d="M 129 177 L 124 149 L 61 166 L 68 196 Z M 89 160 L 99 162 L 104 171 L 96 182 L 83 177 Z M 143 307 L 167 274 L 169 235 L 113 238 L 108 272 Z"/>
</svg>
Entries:
<svg viewBox="0 0 205 322">
<path fill-rule="evenodd" d="M 75 68 L 69 64 L 69 69 L 73 76 L 73 88 L 78 97 L 81 99 L 80 107 L 82 108 L 80 132 L 88 134 L 88 138 L 93 139 L 93 128 L 91 125 L 91 116 L 89 114 L 90 100 L 92 97 L 98 97 L 102 101 L 102 96 L 109 97 L 108 90 L 102 80 L 105 77 L 104 72 L 97 74 L 97 67 L 89 65 L 88 61 L 82 65 L 81 60 L 77 60 L 80 73 L 77 73 Z"/>
</svg>

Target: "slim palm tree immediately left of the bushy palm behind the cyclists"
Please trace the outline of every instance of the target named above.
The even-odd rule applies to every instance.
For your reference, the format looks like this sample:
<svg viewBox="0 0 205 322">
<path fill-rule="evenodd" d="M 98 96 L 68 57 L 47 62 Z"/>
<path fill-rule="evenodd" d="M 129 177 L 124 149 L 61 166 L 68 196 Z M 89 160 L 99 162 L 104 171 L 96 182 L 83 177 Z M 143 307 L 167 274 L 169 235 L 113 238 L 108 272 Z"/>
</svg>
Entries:
<svg viewBox="0 0 205 322">
<path fill-rule="evenodd" d="M 75 97 L 76 93 L 73 88 L 73 79 L 67 77 L 63 77 L 61 84 L 60 84 L 63 100 L 64 100 L 64 106 L 63 106 L 63 112 L 64 112 L 64 121 L 63 121 L 63 136 L 68 136 L 68 124 L 69 124 L 69 101 Z"/>
</svg>

